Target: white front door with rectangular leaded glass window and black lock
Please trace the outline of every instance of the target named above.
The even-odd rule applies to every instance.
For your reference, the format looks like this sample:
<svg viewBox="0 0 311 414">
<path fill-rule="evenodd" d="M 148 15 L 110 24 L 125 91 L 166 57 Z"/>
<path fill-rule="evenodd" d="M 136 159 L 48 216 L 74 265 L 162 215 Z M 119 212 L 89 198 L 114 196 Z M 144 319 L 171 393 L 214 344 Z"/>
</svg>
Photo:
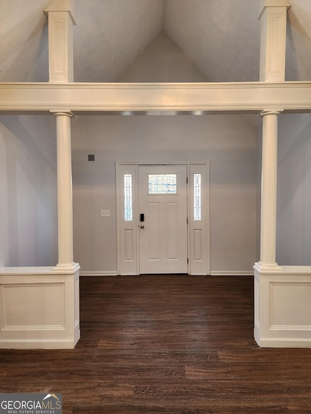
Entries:
<svg viewBox="0 0 311 414">
<path fill-rule="evenodd" d="M 138 166 L 139 273 L 188 273 L 187 166 Z"/>
</svg>

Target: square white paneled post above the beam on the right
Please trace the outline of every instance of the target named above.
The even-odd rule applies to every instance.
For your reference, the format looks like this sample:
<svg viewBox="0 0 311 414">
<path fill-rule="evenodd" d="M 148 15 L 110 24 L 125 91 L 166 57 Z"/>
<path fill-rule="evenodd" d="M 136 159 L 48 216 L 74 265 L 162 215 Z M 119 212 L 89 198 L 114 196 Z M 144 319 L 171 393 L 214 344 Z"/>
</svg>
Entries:
<svg viewBox="0 0 311 414">
<path fill-rule="evenodd" d="M 287 0 L 261 0 L 258 19 L 260 32 L 260 82 L 285 80 Z"/>
</svg>

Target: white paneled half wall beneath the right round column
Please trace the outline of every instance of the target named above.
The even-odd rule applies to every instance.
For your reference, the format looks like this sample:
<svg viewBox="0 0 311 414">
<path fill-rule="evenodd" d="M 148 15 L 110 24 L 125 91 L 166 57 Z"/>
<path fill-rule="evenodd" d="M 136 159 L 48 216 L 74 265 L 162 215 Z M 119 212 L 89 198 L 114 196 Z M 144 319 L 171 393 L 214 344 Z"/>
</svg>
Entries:
<svg viewBox="0 0 311 414">
<path fill-rule="evenodd" d="M 254 336 L 262 348 L 311 348 L 311 266 L 255 264 Z"/>
</svg>

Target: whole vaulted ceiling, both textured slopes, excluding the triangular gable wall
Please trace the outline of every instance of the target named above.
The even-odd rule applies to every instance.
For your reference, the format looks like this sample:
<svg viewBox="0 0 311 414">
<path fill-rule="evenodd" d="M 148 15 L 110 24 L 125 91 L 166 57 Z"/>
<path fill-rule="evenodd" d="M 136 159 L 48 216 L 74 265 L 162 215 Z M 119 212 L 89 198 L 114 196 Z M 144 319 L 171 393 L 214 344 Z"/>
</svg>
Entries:
<svg viewBox="0 0 311 414">
<path fill-rule="evenodd" d="M 310 81 L 311 0 L 290 2 L 286 80 Z M 0 1 L 0 81 L 49 80 L 49 3 Z M 259 0 L 76 0 L 75 82 L 116 82 L 162 31 L 209 82 L 258 81 L 258 14 Z"/>
</svg>

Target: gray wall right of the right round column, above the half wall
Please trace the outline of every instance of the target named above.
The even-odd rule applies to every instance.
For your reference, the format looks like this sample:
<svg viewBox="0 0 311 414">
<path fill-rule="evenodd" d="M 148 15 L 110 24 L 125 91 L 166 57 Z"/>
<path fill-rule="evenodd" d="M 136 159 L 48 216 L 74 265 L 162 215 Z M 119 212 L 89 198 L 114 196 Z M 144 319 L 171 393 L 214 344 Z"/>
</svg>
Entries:
<svg viewBox="0 0 311 414">
<path fill-rule="evenodd" d="M 276 261 L 311 265 L 311 114 L 280 115 Z"/>
</svg>

